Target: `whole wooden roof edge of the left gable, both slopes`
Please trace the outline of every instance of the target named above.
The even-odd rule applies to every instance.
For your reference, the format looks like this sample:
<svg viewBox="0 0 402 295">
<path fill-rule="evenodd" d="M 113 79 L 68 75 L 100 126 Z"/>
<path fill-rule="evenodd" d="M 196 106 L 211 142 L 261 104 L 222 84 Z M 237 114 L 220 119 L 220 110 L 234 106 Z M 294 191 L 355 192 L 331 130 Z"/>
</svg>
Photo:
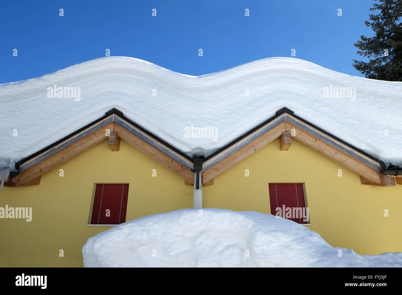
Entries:
<svg viewBox="0 0 402 295">
<path fill-rule="evenodd" d="M 110 135 L 113 138 L 109 138 Z M 4 185 L 9 187 L 37 185 L 43 173 L 72 159 L 103 140 L 110 139 L 109 146 L 112 151 L 118 151 L 119 144 L 116 144 L 116 138 L 125 140 L 186 181 L 194 182 L 194 173 L 191 171 L 193 163 L 189 159 L 178 154 L 169 146 L 165 146 L 160 140 L 146 134 L 138 126 L 127 122 L 124 118 L 110 114 L 20 161 L 21 163 L 18 163 L 17 168 L 19 174 L 9 177 Z"/>
</svg>

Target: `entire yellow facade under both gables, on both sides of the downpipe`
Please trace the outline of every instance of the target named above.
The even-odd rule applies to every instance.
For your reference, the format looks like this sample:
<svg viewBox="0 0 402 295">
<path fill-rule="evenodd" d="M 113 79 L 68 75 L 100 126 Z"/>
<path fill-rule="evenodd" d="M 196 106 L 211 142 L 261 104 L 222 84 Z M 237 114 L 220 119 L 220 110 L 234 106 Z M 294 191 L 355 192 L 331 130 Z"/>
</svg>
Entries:
<svg viewBox="0 0 402 295">
<path fill-rule="evenodd" d="M 359 175 L 296 140 L 289 151 L 275 140 L 216 177 L 202 188 L 203 207 L 270 213 L 269 182 L 305 184 L 308 228 L 332 246 L 359 254 L 402 252 L 402 185 L 361 185 Z M 3 188 L 0 207 L 32 207 L 33 213 L 31 222 L 0 219 L 0 266 L 82 266 L 86 240 L 111 228 L 87 226 L 94 183 L 129 183 L 127 221 L 193 206 L 193 187 L 181 177 L 124 141 L 119 152 L 103 141 L 43 174 L 38 186 Z"/>
</svg>

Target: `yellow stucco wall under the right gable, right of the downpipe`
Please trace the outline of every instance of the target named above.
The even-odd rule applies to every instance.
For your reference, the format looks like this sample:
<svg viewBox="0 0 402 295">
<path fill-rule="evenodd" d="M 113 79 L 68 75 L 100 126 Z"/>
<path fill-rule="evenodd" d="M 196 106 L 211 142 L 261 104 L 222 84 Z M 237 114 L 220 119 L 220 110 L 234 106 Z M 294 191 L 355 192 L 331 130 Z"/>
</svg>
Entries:
<svg viewBox="0 0 402 295">
<path fill-rule="evenodd" d="M 270 213 L 270 182 L 304 183 L 307 227 L 332 246 L 363 255 L 402 252 L 402 185 L 361 185 L 359 175 L 297 140 L 289 151 L 275 140 L 216 177 L 203 187 L 203 207 Z"/>
</svg>

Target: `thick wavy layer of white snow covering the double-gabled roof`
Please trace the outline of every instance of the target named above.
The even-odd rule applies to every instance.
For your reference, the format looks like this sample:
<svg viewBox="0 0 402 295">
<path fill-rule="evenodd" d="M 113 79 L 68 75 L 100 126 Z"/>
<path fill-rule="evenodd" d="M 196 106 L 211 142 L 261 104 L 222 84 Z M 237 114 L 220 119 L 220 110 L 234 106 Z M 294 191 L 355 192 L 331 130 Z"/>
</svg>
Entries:
<svg viewBox="0 0 402 295">
<path fill-rule="evenodd" d="M 49 98 L 54 85 L 77 87 L 77 98 Z M 401 94 L 402 82 L 354 77 L 286 57 L 197 77 L 131 57 L 103 57 L 1 84 L 0 158 L 14 163 L 111 108 L 189 156 L 209 155 L 285 106 L 386 163 L 402 164 Z M 195 138 L 197 127 L 216 134 Z"/>
</svg>

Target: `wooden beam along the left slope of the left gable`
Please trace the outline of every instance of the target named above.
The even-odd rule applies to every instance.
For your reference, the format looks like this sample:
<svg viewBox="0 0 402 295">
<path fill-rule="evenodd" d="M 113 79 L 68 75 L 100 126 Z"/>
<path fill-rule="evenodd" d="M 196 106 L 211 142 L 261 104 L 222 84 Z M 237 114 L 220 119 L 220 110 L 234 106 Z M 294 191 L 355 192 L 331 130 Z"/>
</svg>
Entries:
<svg viewBox="0 0 402 295">
<path fill-rule="evenodd" d="M 85 136 L 84 138 L 67 146 L 61 151 L 44 159 L 43 161 L 33 165 L 32 167 L 29 167 L 27 170 L 22 171 L 20 174 L 15 176 L 15 179 L 11 180 L 12 183 L 16 183 L 16 185 L 13 186 L 21 186 L 30 183 L 37 177 L 41 176 L 43 173 L 90 149 L 92 146 L 105 140 L 107 138 L 106 129 L 109 129 L 111 132 L 113 132 L 113 126 L 114 123 L 111 122 L 103 126 L 102 128 L 99 128 L 98 130 L 92 132 L 88 136 Z"/>
</svg>

